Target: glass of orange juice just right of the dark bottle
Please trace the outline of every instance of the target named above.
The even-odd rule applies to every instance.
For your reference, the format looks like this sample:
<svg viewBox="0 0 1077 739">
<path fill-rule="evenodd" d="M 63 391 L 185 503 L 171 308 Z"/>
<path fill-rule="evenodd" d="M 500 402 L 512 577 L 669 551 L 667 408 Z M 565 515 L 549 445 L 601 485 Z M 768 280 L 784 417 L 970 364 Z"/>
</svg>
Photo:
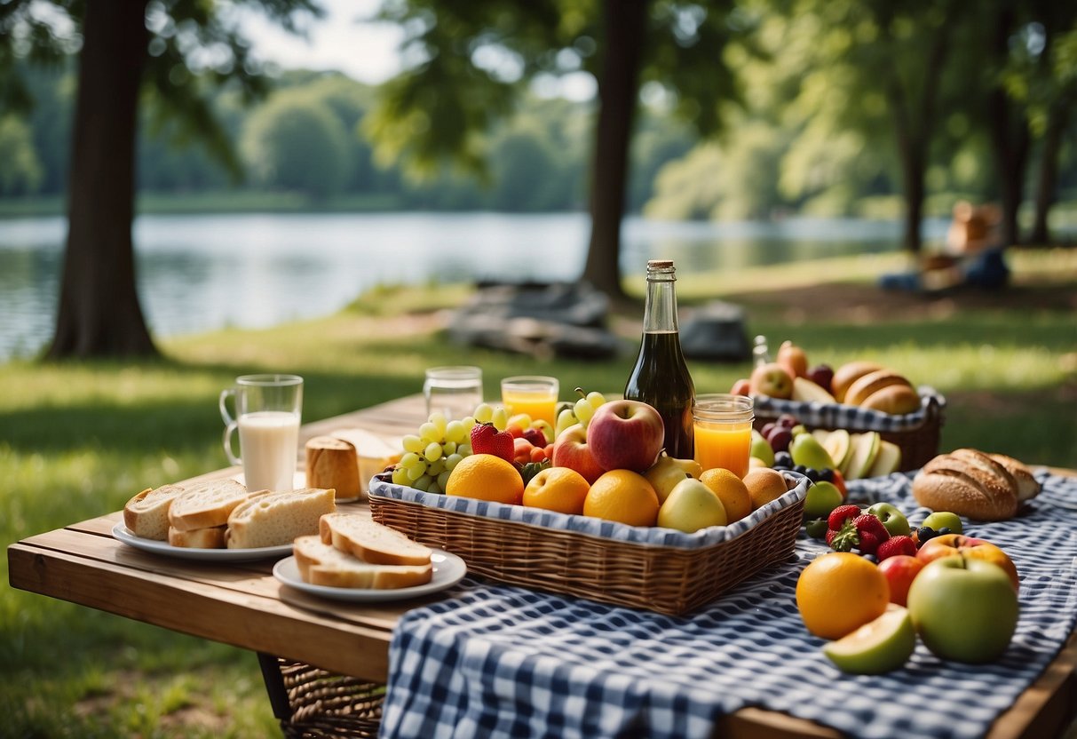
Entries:
<svg viewBox="0 0 1077 739">
<path fill-rule="evenodd" d="M 696 461 L 704 470 L 725 468 L 738 477 L 746 475 L 755 420 L 752 399 L 727 393 L 697 395 L 691 416 Z"/>
</svg>

